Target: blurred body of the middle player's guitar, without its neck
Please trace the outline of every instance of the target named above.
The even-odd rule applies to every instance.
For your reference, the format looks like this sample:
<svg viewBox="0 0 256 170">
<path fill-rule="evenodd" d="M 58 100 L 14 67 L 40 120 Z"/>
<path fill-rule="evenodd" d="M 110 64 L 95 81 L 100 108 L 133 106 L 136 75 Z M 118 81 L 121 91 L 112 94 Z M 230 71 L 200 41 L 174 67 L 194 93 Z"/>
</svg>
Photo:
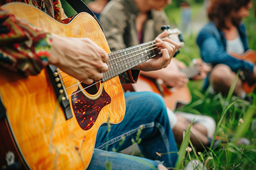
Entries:
<svg viewBox="0 0 256 170">
<path fill-rule="evenodd" d="M 188 87 L 168 88 L 161 85 L 161 93 L 155 82 L 145 76 L 139 76 L 137 83 L 132 86 L 136 92 L 149 91 L 163 95 L 166 106 L 173 111 L 176 109 L 177 103 L 189 104 L 192 98 Z"/>
</svg>

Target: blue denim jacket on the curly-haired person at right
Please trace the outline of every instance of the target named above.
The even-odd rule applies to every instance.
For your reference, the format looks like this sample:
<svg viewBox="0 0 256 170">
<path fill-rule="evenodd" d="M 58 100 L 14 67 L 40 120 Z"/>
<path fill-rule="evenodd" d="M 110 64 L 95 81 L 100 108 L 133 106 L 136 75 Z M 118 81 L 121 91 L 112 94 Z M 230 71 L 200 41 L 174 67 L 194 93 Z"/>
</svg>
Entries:
<svg viewBox="0 0 256 170">
<path fill-rule="evenodd" d="M 247 42 L 246 28 L 244 24 L 238 27 L 238 33 L 243 43 L 245 51 L 249 49 Z M 213 22 L 209 22 L 204 26 L 196 40 L 200 51 L 201 58 L 206 63 L 211 63 L 213 66 L 217 64 L 225 64 L 232 71 L 237 72 L 240 68 L 242 71 L 250 75 L 253 71 L 253 65 L 245 60 L 236 59 L 226 52 L 226 39 L 223 32 L 219 32 Z M 204 85 L 204 90 L 208 86 L 208 77 Z"/>
</svg>

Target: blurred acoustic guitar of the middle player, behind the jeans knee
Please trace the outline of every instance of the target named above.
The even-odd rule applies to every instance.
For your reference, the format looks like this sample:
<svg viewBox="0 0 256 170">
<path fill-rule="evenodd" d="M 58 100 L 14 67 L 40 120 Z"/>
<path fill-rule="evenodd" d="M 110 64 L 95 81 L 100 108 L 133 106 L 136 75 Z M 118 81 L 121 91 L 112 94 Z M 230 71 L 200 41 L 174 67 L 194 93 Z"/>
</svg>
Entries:
<svg viewBox="0 0 256 170">
<path fill-rule="evenodd" d="M 189 79 L 198 76 L 200 71 L 199 66 L 190 66 L 188 68 L 180 69 L 180 72 L 185 74 Z M 154 79 L 146 76 L 139 76 L 137 83 L 132 84 L 134 91 L 150 91 L 161 94 L 165 100 L 166 106 L 175 110 L 178 103 L 189 104 L 191 102 L 191 93 L 187 86 L 176 88 L 169 87 L 160 79 Z"/>
</svg>

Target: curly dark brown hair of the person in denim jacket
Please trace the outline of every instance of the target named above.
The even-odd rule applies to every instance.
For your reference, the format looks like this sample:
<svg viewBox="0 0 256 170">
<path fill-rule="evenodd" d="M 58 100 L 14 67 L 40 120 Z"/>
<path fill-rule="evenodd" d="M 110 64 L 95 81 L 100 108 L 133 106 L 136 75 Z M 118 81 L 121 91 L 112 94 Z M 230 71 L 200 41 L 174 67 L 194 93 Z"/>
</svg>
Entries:
<svg viewBox="0 0 256 170">
<path fill-rule="evenodd" d="M 251 0 L 211 0 L 208 8 L 208 17 L 215 23 L 219 30 L 228 28 L 225 20 L 232 11 L 238 12 L 241 7 L 246 7 Z"/>
</svg>

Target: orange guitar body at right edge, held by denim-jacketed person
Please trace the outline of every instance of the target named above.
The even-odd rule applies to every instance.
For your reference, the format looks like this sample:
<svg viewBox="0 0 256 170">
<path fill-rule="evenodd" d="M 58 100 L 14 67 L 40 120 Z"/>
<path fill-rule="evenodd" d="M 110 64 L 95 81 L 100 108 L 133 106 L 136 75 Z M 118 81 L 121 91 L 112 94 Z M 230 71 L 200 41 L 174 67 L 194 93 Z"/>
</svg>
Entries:
<svg viewBox="0 0 256 170">
<path fill-rule="evenodd" d="M 231 54 L 233 57 L 238 58 L 238 59 L 243 59 L 246 61 L 249 61 L 251 63 L 256 64 L 256 51 L 248 50 L 246 51 L 243 55 L 238 55 L 238 54 Z M 247 82 L 243 84 L 243 89 L 246 93 L 252 93 L 253 90 L 256 87 L 256 83 L 253 85 L 249 85 Z"/>
</svg>

